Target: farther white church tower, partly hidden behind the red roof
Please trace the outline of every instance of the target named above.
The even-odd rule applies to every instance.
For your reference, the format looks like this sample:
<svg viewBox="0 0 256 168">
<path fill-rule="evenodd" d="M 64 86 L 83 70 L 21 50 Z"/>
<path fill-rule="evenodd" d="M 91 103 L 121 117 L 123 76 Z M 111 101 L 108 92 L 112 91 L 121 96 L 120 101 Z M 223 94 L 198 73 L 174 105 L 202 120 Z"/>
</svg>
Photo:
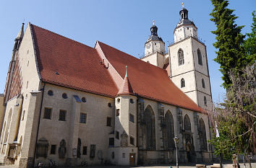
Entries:
<svg viewBox="0 0 256 168">
<path fill-rule="evenodd" d="M 155 26 L 155 21 L 153 21 L 150 32 L 151 35 L 145 43 L 145 56 L 142 61 L 163 68 L 168 59 L 166 60 L 165 43 L 161 37 L 158 37 L 158 27 Z"/>
</svg>

